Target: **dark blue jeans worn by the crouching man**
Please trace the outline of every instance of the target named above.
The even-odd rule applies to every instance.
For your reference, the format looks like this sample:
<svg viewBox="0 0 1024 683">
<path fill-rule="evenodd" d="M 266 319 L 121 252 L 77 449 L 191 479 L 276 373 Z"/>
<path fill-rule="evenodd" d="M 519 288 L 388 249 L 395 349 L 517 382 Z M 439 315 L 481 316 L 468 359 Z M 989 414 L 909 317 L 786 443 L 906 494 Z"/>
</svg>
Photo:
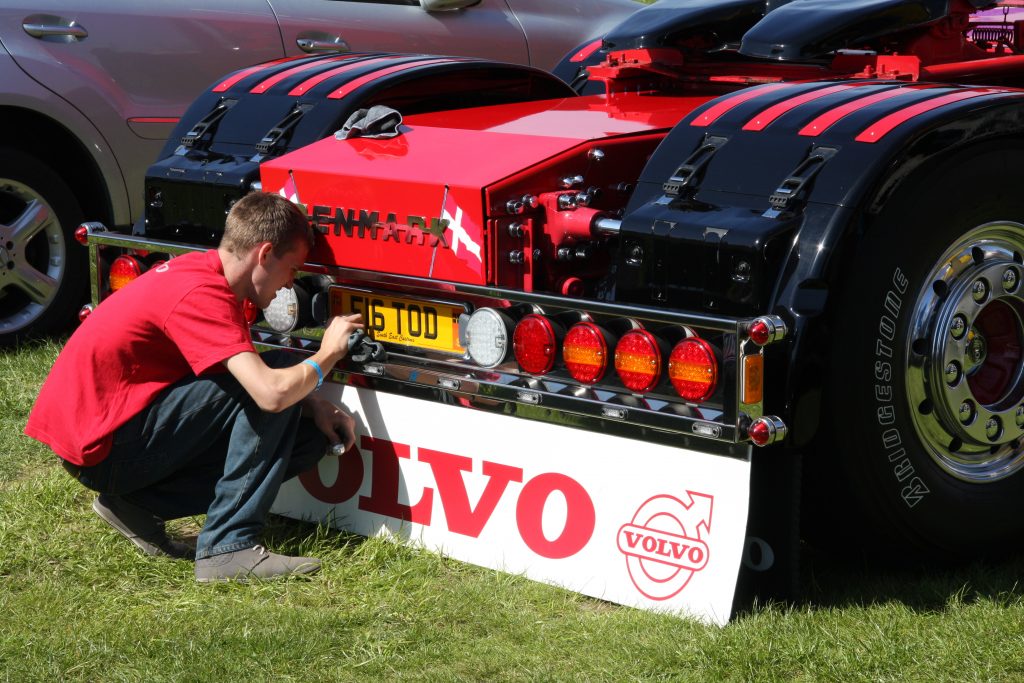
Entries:
<svg viewBox="0 0 1024 683">
<path fill-rule="evenodd" d="M 327 437 L 298 405 L 261 411 L 231 375 L 174 384 L 114 433 L 79 481 L 163 519 L 206 513 L 196 558 L 252 548 L 281 483 L 312 468 Z"/>
</svg>

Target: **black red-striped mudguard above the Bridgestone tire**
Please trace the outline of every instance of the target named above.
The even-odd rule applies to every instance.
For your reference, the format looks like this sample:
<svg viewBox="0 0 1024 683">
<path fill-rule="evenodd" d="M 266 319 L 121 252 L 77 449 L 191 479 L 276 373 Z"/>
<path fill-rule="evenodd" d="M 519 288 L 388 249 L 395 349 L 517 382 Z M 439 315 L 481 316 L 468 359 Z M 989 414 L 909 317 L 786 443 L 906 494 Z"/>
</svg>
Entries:
<svg viewBox="0 0 1024 683">
<path fill-rule="evenodd" d="M 785 351 L 771 349 L 788 362 L 774 364 L 787 369 L 770 378 L 767 398 L 792 419 L 821 377 L 827 344 L 817 323 L 862 221 L 915 170 L 1022 135 L 1021 90 L 831 81 L 714 99 L 643 171 L 623 219 L 614 298 L 781 315 L 794 334 Z M 797 443 L 813 423 L 797 424 Z"/>
</svg>

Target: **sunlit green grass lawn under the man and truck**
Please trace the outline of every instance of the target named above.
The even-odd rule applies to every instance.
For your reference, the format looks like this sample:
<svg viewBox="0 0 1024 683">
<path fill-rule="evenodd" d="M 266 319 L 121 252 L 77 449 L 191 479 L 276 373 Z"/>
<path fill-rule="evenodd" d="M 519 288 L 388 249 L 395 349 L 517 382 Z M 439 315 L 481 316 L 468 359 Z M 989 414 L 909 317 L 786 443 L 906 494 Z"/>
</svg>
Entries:
<svg viewBox="0 0 1024 683">
<path fill-rule="evenodd" d="M 803 601 L 719 629 L 274 520 L 269 545 L 323 558 L 318 575 L 199 586 L 20 435 L 57 348 L 0 351 L 0 681 L 1024 680 L 1024 558 L 927 574 L 817 558 Z"/>
</svg>

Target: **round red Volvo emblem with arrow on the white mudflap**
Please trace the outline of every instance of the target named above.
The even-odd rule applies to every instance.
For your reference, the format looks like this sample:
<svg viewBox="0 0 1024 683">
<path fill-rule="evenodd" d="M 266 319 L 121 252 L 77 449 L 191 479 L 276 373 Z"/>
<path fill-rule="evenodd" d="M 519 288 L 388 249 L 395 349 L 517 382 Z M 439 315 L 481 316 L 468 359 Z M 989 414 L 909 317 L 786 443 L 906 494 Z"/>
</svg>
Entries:
<svg viewBox="0 0 1024 683">
<path fill-rule="evenodd" d="M 689 505 L 674 496 L 655 496 L 618 529 L 618 550 L 626 555 L 630 579 L 651 600 L 677 595 L 708 564 L 714 498 L 686 493 Z"/>
</svg>

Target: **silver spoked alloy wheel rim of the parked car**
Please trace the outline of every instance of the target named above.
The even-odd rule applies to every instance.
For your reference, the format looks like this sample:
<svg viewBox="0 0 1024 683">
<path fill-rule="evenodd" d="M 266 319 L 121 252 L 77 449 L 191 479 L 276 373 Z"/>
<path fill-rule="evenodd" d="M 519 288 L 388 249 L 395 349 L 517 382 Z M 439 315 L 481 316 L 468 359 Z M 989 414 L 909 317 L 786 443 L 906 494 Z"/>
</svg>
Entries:
<svg viewBox="0 0 1024 683">
<path fill-rule="evenodd" d="M 0 178 L 0 334 L 25 330 L 46 311 L 67 268 L 67 249 L 46 200 Z"/>
</svg>

